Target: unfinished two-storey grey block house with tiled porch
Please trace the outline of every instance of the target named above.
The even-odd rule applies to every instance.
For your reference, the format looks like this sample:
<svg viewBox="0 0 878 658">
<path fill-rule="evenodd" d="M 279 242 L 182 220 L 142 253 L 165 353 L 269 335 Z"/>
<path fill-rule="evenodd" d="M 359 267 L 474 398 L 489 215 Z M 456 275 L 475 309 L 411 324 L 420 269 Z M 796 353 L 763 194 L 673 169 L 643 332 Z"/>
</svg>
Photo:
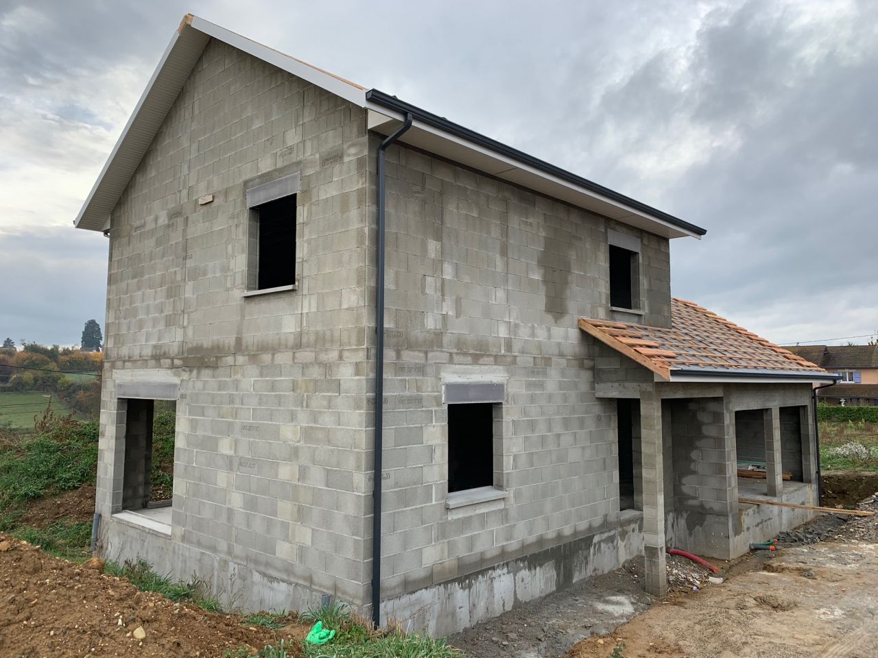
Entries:
<svg viewBox="0 0 878 658">
<path fill-rule="evenodd" d="M 630 558 L 660 596 L 666 547 L 817 503 L 837 375 L 671 297 L 704 229 L 200 18 L 76 225 L 110 247 L 99 554 L 445 634 Z"/>
</svg>

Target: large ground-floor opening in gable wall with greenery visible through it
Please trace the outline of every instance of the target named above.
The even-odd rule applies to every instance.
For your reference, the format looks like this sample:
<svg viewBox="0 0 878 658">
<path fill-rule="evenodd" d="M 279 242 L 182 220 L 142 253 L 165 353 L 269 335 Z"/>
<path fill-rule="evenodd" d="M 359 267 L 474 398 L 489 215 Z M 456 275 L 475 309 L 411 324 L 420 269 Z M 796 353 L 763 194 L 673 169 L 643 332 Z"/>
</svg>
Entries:
<svg viewBox="0 0 878 658">
<path fill-rule="evenodd" d="M 170 504 L 174 490 L 175 428 L 176 403 L 127 400 L 123 509 Z"/>
</svg>

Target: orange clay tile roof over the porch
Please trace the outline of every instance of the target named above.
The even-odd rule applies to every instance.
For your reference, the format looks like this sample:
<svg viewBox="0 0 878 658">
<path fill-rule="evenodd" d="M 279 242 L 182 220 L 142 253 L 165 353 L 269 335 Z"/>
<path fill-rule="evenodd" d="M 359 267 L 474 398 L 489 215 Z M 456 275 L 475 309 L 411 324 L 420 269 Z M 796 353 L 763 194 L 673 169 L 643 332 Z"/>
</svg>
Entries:
<svg viewBox="0 0 878 658">
<path fill-rule="evenodd" d="M 774 376 L 836 379 L 711 311 L 684 299 L 671 301 L 672 328 L 580 318 L 579 328 L 637 361 L 665 381 L 673 375 Z"/>
</svg>

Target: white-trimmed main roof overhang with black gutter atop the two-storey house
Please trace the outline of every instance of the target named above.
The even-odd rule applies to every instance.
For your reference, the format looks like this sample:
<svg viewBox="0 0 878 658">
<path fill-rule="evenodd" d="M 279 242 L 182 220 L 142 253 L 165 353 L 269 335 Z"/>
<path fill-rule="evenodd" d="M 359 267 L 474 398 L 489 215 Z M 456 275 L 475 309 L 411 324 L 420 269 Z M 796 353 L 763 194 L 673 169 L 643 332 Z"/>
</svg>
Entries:
<svg viewBox="0 0 878 658">
<path fill-rule="evenodd" d="M 109 228 L 112 209 L 210 39 L 223 41 L 367 109 L 370 130 L 390 134 L 401 125 L 407 113 L 412 114 L 412 128 L 400 141 L 413 147 L 667 238 L 686 235 L 699 238 L 706 232 L 699 226 L 507 147 L 431 112 L 403 103 L 396 97 L 377 89 L 367 91 L 322 68 L 278 53 L 191 14 L 184 17 L 150 78 L 147 89 L 134 107 L 119 141 L 74 221 L 77 228 L 92 231 Z"/>
</svg>

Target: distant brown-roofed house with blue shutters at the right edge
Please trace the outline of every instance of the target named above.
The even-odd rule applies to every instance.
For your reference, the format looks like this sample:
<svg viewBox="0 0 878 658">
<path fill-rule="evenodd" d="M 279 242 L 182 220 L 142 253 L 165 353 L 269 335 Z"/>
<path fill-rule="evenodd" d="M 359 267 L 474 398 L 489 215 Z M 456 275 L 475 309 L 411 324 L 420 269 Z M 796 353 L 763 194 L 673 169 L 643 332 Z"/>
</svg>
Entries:
<svg viewBox="0 0 878 658">
<path fill-rule="evenodd" d="M 796 345 L 787 349 L 802 359 L 837 373 L 838 384 L 818 390 L 825 404 L 878 404 L 878 345 Z"/>
</svg>

